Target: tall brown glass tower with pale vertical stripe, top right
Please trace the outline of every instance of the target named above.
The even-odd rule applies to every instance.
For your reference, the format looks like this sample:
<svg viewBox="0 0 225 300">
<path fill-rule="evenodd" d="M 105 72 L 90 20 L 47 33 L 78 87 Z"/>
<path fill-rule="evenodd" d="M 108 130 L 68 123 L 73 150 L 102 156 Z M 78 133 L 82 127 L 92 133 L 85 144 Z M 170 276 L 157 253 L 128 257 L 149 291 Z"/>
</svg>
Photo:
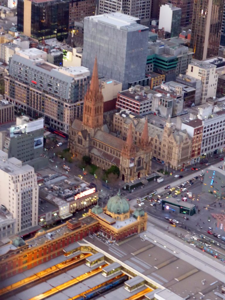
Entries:
<svg viewBox="0 0 225 300">
<path fill-rule="evenodd" d="M 190 46 L 194 58 L 218 55 L 223 17 L 222 0 L 194 0 Z"/>
</svg>

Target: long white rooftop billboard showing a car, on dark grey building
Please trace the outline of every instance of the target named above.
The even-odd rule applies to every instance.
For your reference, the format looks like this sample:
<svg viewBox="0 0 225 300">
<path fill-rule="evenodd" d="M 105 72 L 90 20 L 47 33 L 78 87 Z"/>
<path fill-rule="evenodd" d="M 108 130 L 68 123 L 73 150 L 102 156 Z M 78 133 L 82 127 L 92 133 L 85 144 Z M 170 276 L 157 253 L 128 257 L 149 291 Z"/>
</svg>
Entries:
<svg viewBox="0 0 225 300">
<path fill-rule="evenodd" d="M 29 133 L 38 129 L 44 128 L 44 119 L 40 118 L 35 121 L 30 121 L 21 125 L 15 125 L 10 127 L 10 137 L 14 137 L 18 134 Z"/>
</svg>

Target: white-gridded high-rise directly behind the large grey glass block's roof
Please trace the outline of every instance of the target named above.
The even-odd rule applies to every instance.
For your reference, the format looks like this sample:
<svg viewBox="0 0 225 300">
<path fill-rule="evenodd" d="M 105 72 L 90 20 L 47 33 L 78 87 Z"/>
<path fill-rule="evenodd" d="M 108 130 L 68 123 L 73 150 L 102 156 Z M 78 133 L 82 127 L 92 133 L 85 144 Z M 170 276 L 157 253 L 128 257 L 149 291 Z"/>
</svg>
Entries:
<svg viewBox="0 0 225 300">
<path fill-rule="evenodd" d="M 151 17 L 151 7 L 152 0 L 99 0 L 98 13 L 104 14 L 122 11 L 127 15 L 139 18 L 141 24 L 148 26 Z"/>
</svg>

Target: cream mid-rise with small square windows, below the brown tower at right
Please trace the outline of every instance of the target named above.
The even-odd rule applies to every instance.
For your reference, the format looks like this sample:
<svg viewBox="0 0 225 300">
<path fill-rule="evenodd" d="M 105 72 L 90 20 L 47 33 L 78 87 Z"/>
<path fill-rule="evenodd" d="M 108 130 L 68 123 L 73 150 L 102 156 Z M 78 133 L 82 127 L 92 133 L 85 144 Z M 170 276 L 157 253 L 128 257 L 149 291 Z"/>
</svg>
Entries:
<svg viewBox="0 0 225 300">
<path fill-rule="evenodd" d="M 186 74 L 202 81 L 201 104 L 204 104 L 207 98 L 216 96 L 218 74 L 214 64 L 204 61 L 192 62 L 188 65 Z"/>
</svg>

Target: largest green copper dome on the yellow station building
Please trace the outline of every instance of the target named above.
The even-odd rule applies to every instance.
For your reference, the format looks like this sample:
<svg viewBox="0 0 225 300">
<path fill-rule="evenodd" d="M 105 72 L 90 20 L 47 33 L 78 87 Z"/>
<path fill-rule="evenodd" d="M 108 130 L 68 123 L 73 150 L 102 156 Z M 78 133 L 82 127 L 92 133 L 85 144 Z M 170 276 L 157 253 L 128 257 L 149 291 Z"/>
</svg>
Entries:
<svg viewBox="0 0 225 300">
<path fill-rule="evenodd" d="M 109 199 L 107 210 L 114 214 L 125 214 L 130 210 L 130 205 L 127 199 L 122 197 L 119 192 L 116 196 Z"/>
</svg>

